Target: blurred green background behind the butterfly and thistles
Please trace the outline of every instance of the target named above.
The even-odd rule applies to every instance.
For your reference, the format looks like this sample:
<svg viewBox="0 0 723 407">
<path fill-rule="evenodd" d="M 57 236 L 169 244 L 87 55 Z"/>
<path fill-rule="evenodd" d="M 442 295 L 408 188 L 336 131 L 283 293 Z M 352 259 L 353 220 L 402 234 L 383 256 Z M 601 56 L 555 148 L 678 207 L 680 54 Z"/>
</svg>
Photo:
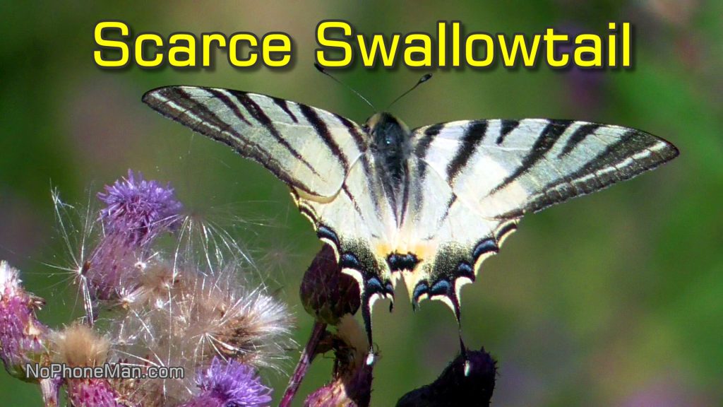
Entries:
<svg viewBox="0 0 723 407">
<path fill-rule="evenodd" d="M 463 294 L 466 343 L 499 360 L 497 406 L 720 406 L 723 403 L 723 2 L 641 1 L 194 1 L 0 4 L 0 258 L 48 299 L 53 326 L 80 311 L 50 264 L 67 264 L 51 187 L 84 205 L 128 168 L 168 180 L 198 211 L 231 229 L 272 288 L 296 311 L 296 340 L 312 319 L 299 306 L 304 269 L 320 248 L 286 187 L 224 146 L 192 136 L 140 102 L 160 85 L 213 85 L 301 101 L 363 121 L 372 112 L 313 67 L 317 22 L 341 18 L 361 33 L 434 33 L 437 20 L 468 32 L 604 33 L 635 26 L 634 70 L 445 70 L 396 104 L 411 127 L 471 118 L 554 117 L 637 127 L 675 143 L 680 158 L 614 188 L 529 216 Z M 292 69 L 100 70 L 93 27 L 124 20 L 134 33 L 174 31 L 294 38 Z M 424 71 L 338 77 L 385 106 Z M 244 221 L 261 221 L 250 225 Z M 59 284 L 59 282 L 61 282 Z M 403 291 L 403 288 L 399 288 Z M 432 382 L 458 351 L 442 303 L 412 314 L 400 293 L 378 306 L 373 406 Z M 290 352 L 286 372 L 298 353 Z M 321 358 L 301 397 L 330 377 Z M 266 375 L 283 392 L 286 374 Z M 0 372 L 0 405 L 40 396 Z"/>
</svg>

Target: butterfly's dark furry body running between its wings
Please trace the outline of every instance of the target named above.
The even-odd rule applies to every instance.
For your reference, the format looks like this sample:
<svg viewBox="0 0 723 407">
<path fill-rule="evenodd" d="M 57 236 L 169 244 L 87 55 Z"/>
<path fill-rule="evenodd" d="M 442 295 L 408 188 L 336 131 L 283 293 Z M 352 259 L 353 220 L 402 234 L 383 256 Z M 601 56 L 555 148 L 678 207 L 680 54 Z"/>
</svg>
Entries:
<svg viewBox="0 0 723 407">
<path fill-rule="evenodd" d="M 378 179 L 392 206 L 396 224 L 401 225 L 409 198 L 411 132 L 404 122 L 385 112 L 370 117 L 365 129 L 372 139 L 369 151 Z"/>
</svg>

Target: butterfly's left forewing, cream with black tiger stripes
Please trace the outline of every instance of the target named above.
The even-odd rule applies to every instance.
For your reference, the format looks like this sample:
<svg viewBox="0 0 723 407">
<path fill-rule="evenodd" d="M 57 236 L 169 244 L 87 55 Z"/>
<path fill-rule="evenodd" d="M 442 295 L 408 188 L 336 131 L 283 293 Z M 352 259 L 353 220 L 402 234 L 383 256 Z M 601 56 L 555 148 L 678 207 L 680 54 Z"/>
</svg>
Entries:
<svg viewBox="0 0 723 407">
<path fill-rule="evenodd" d="M 301 196 L 325 200 L 341 189 L 367 149 L 354 122 L 281 98 L 194 86 L 143 96 L 150 107 L 259 162 Z"/>
</svg>

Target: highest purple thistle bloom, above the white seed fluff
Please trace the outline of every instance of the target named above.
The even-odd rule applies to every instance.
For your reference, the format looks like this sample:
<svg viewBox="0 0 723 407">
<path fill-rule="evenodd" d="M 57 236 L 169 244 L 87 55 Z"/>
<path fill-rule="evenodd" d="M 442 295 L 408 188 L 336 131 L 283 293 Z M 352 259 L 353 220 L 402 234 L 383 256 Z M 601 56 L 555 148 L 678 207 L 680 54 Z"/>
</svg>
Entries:
<svg viewBox="0 0 723 407">
<path fill-rule="evenodd" d="M 98 199 L 106 204 L 100 211 L 106 233 L 127 235 L 138 246 L 173 226 L 182 209 L 170 184 L 164 187 L 144 180 L 140 172 L 134 174 L 131 169 L 127 178 L 106 185 L 106 192 L 98 193 Z"/>
</svg>

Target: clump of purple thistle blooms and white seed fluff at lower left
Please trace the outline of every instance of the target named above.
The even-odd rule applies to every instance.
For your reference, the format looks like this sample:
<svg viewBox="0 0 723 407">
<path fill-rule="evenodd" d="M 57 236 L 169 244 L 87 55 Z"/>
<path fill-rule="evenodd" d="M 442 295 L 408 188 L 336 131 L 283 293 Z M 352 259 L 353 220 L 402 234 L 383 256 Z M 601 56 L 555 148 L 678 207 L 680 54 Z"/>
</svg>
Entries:
<svg viewBox="0 0 723 407">
<path fill-rule="evenodd" d="M 71 248 L 74 229 L 63 223 L 70 206 L 56 192 L 53 198 Z M 59 330 L 39 322 L 44 301 L 0 263 L 0 358 L 8 372 L 38 382 L 46 406 L 57 406 L 61 391 L 72 406 L 268 406 L 271 389 L 259 369 L 279 369 L 286 358 L 291 314 L 244 277 L 229 235 L 214 235 L 217 227 L 183 213 L 170 185 L 137 172 L 98 199 L 103 206 L 86 214 L 82 248 L 67 267 L 83 293 L 79 322 Z M 193 244 L 199 235 L 202 243 Z M 184 374 L 42 378 L 27 369 L 51 364 L 179 367 Z"/>
</svg>

